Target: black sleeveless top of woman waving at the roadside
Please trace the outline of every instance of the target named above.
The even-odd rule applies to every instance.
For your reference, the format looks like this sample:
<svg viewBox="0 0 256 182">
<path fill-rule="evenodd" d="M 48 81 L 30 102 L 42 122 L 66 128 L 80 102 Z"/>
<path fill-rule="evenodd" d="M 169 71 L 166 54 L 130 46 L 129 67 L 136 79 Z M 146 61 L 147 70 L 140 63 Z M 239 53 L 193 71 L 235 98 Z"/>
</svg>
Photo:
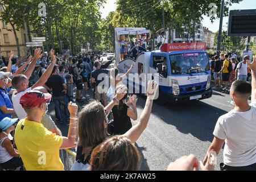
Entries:
<svg viewBox="0 0 256 182">
<path fill-rule="evenodd" d="M 114 134 L 115 135 L 125 134 L 132 127 L 131 119 L 127 115 L 128 108 L 129 107 L 126 104 L 123 104 L 123 107 L 120 113 L 118 113 L 118 106 L 114 106 L 112 109 L 113 116 L 114 116 Z"/>
</svg>

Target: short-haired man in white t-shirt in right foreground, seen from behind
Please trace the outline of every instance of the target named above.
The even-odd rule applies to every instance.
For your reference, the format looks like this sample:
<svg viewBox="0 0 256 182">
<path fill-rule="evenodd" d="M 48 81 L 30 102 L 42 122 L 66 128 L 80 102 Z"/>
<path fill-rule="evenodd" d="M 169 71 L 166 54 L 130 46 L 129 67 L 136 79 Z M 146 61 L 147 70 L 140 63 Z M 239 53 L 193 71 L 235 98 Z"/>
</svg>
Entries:
<svg viewBox="0 0 256 182">
<path fill-rule="evenodd" d="M 251 84 L 244 80 L 234 81 L 230 97 L 234 109 L 218 118 L 213 131 L 214 139 L 208 149 L 218 154 L 224 147 L 223 171 L 256 170 L 256 57 L 249 63 Z M 251 96 L 251 104 L 248 100 Z M 205 156 L 204 164 L 208 155 Z"/>
</svg>

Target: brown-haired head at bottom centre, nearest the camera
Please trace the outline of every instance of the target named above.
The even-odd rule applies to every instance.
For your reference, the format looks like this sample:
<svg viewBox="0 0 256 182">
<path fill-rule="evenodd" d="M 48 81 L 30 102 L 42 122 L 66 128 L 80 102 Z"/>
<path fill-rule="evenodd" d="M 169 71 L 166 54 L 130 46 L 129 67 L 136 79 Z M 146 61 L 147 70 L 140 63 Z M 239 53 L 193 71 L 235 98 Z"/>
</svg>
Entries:
<svg viewBox="0 0 256 182">
<path fill-rule="evenodd" d="M 92 152 L 92 171 L 138 171 L 141 163 L 137 147 L 127 137 L 116 135 L 106 139 Z"/>
</svg>

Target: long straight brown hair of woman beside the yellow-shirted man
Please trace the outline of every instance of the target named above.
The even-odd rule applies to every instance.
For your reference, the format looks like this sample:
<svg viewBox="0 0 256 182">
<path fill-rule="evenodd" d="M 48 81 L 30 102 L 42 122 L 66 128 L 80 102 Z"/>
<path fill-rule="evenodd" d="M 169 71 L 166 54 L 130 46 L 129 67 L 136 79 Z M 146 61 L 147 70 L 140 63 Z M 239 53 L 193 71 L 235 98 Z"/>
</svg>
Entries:
<svg viewBox="0 0 256 182">
<path fill-rule="evenodd" d="M 107 137 L 104 127 L 105 111 L 100 102 L 92 101 L 79 113 L 79 145 L 91 147 L 100 144 Z"/>
</svg>

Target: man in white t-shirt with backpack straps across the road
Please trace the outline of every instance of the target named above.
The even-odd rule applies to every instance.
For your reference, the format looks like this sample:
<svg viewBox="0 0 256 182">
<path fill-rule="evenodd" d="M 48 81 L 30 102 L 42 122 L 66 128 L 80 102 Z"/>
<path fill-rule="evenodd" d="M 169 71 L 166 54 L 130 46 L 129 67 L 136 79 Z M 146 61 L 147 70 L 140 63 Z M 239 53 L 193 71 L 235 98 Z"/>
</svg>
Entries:
<svg viewBox="0 0 256 182">
<path fill-rule="evenodd" d="M 238 63 L 235 80 L 245 80 L 245 81 L 247 80 L 247 74 L 248 74 L 247 61 L 250 61 L 250 56 L 243 57 L 243 61 Z"/>
</svg>

